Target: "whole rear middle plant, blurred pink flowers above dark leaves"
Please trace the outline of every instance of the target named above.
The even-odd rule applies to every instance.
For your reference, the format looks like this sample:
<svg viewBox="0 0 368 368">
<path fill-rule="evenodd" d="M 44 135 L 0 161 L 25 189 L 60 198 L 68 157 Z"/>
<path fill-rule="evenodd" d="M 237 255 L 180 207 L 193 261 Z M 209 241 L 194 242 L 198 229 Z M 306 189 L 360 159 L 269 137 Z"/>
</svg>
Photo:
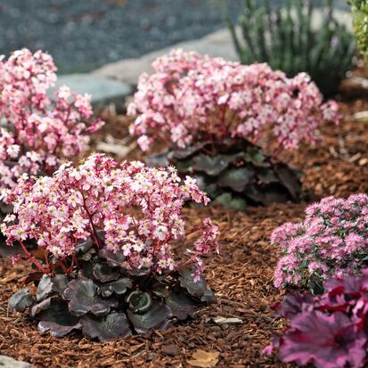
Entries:
<svg viewBox="0 0 368 368">
<path fill-rule="evenodd" d="M 139 79 L 127 109 L 137 116 L 131 134 L 139 136 L 143 151 L 153 142 L 170 150 L 152 163 L 175 163 L 231 207 L 242 208 L 244 198 L 298 200 L 297 172 L 272 162 L 256 143 L 272 131 L 275 157 L 300 143 L 315 143 L 315 129 L 324 120 L 338 121 L 337 103 L 323 103 L 307 74 L 287 78 L 266 64 L 245 66 L 183 50 L 160 57 L 152 67 L 151 76 Z"/>
</svg>

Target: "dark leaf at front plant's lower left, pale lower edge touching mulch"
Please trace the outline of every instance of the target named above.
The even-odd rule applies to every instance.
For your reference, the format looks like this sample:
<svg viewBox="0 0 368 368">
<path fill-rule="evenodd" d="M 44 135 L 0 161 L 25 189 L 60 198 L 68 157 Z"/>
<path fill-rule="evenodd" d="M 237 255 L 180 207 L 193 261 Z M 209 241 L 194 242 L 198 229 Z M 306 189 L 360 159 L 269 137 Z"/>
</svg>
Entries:
<svg viewBox="0 0 368 368">
<path fill-rule="evenodd" d="M 72 330 L 79 330 L 78 317 L 71 315 L 68 305 L 63 300 L 53 300 L 51 306 L 38 313 L 38 331 L 50 331 L 51 336 L 61 338 Z"/>
</svg>

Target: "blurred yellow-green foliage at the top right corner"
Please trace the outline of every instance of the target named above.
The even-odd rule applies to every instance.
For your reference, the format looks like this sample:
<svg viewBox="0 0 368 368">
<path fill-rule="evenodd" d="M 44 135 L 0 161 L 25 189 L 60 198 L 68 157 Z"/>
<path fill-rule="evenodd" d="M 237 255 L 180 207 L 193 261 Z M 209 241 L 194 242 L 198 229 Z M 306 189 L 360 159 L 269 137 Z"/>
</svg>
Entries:
<svg viewBox="0 0 368 368">
<path fill-rule="evenodd" d="M 357 46 L 366 59 L 368 56 L 368 1 L 350 0 L 349 3 L 351 4 L 351 10 L 353 12 L 353 24 Z"/>
</svg>

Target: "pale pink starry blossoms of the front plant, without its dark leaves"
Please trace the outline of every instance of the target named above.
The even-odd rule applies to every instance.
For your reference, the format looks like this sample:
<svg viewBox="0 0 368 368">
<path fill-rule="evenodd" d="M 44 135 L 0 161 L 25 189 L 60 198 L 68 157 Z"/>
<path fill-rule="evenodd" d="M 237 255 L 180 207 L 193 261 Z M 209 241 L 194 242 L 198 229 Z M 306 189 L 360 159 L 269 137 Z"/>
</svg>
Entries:
<svg viewBox="0 0 368 368">
<path fill-rule="evenodd" d="M 7 197 L 15 215 L 5 217 L 2 232 L 9 245 L 34 239 L 61 260 L 73 256 L 78 242 L 91 238 L 99 249 L 123 253 L 127 269 L 175 270 L 172 245 L 186 235 L 184 201 L 209 202 L 194 179 L 179 182 L 175 168 L 147 168 L 139 161 L 118 164 L 94 154 L 78 168 L 61 165 L 52 177 L 20 178 Z M 185 265 L 195 264 L 199 276 L 200 256 L 218 251 L 218 230 L 207 218 L 194 231 L 200 234 L 187 250 Z"/>
</svg>

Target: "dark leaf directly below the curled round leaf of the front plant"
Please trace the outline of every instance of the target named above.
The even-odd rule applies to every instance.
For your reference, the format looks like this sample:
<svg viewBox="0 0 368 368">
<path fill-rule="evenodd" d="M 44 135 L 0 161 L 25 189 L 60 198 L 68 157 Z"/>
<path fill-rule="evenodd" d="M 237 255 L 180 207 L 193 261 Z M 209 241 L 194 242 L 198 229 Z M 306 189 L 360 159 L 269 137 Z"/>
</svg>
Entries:
<svg viewBox="0 0 368 368">
<path fill-rule="evenodd" d="M 127 310 L 127 315 L 138 333 L 144 333 L 150 329 L 165 331 L 170 325 L 169 318 L 172 316 L 170 307 L 165 303 L 153 300 L 151 309 L 143 314 L 135 314 Z"/>
</svg>

